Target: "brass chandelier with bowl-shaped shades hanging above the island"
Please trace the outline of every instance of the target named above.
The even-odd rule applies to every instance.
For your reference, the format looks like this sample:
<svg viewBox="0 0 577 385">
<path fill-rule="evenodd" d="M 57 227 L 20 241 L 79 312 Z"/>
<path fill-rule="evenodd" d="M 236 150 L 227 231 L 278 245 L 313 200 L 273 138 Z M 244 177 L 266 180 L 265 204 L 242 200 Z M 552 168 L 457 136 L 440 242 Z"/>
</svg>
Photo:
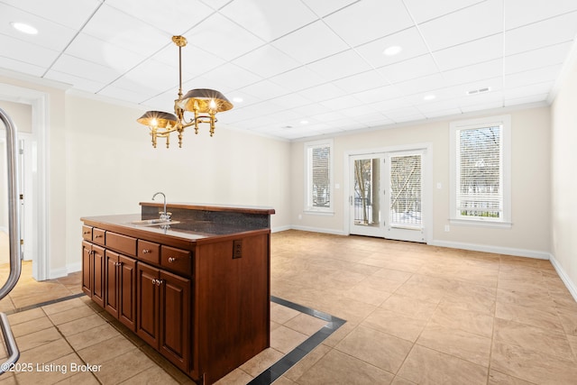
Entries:
<svg viewBox="0 0 577 385">
<path fill-rule="evenodd" d="M 172 41 L 179 46 L 179 98 L 174 101 L 174 114 L 162 111 L 147 111 L 136 121 L 148 126 L 151 130 L 152 147 L 156 148 L 157 138 L 166 138 L 166 148 L 169 148 L 170 133 L 179 133 L 179 147 L 182 147 L 182 133 L 190 126 L 198 133 L 199 124 L 210 124 L 210 136 L 215 134 L 216 114 L 228 111 L 233 104 L 223 94 L 214 89 L 198 88 L 188 91 L 182 96 L 182 47 L 187 45 L 184 36 L 172 36 Z M 189 120 L 185 112 L 193 113 Z"/>
</svg>

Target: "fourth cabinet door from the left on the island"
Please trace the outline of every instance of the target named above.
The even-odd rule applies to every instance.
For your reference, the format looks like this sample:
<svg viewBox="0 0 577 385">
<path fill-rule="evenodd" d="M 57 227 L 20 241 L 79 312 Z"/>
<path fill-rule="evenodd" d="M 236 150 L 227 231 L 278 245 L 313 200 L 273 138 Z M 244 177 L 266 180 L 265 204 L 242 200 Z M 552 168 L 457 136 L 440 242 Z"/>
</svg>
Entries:
<svg viewBox="0 0 577 385">
<path fill-rule="evenodd" d="M 119 256 L 118 320 L 136 330 L 136 260 Z"/>
</svg>

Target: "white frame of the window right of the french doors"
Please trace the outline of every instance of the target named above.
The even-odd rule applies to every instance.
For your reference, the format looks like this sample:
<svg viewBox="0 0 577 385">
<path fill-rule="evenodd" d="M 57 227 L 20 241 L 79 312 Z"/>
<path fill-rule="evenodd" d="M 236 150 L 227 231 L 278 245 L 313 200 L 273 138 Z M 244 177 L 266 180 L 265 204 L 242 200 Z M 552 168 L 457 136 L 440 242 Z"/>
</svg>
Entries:
<svg viewBox="0 0 577 385">
<path fill-rule="evenodd" d="M 457 208 L 457 186 L 459 165 L 457 139 L 462 130 L 482 127 L 501 126 L 500 158 L 501 158 L 501 188 L 502 188 L 502 217 L 467 217 L 460 215 Z M 453 225 L 477 225 L 488 227 L 510 227 L 511 224 L 511 116 L 499 115 L 479 119 L 469 119 L 452 122 L 450 124 L 450 214 L 449 220 Z"/>
</svg>

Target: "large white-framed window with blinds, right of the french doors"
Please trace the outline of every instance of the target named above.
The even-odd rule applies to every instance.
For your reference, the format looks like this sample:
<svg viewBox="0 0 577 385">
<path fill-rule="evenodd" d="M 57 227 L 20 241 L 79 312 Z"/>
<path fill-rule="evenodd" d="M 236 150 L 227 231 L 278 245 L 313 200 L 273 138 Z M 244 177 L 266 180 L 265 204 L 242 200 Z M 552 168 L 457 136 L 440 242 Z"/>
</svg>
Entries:
<svg viewBox="0 0 577 385">
<path fill-rule="evenodd" d="M 510 225 L 510 117 L 451 124 L 451 219 Z"/>
</svg>

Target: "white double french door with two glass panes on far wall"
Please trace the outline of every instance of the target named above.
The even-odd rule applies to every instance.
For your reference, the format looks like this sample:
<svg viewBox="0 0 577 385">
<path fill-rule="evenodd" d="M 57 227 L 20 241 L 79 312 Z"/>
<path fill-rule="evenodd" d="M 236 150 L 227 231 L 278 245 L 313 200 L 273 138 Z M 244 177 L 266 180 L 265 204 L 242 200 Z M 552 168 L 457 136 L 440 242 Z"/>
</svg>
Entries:
<svg viewBox="0 0 577 385">
<path fill-rule="evenodd" d="M 425 242 L 424 150 L 349 158 L 350 233 Z"/>
</svg>

